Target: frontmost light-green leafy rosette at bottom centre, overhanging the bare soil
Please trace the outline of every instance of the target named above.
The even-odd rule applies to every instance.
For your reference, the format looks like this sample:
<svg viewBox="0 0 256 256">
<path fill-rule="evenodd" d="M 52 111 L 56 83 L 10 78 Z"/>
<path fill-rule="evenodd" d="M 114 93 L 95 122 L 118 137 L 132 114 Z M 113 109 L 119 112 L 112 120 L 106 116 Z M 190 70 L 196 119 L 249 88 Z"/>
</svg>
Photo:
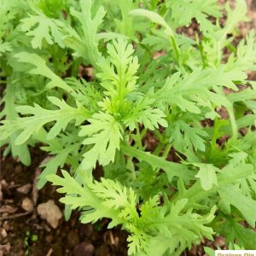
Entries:
<svg viewBox="0 0 256 256">
<path fill-rule="evenodd" d="M 183 212 L 187 199 L 177 201 L 176 204 L 166 203 L 166 207 L 159 206 L 158 196 L 145 201 L 137 212 L 137 196 L 133 189 L 126 188 L 113 180 L 102 178 L 101 182 L 92 181 L 90 176 L 83 174 L 80 185 L 66 171 L 63 177 L 49 176 L 49 181 L 61 186 L 58 192 L 65 193 L 61 202 L 70 205 L 72 209 L 80 207 L 81 222 L 96 222 L 107 217 L 113 227 L 122 224 L 125 230 L 131 232 L 128 237 L 129 254 L 143 250 L 146 255 L 155 255 L 155 243 L 164 237 L 161 245 L 161 255 L 166 250 L 174 253 L 178 244 L 181 253 L 185 247 L 190 247 L 192 241 L 199 241 L 201 236 L 212 239 L 213 231 L 206 224 L 214 218 L 212 211 L 207 216 L 200 216 L 191 211 Z M 76 195 L 73 195 L 73 193 Z M 163 236 L 163 237 L 162 237 Z"/>
</svg>

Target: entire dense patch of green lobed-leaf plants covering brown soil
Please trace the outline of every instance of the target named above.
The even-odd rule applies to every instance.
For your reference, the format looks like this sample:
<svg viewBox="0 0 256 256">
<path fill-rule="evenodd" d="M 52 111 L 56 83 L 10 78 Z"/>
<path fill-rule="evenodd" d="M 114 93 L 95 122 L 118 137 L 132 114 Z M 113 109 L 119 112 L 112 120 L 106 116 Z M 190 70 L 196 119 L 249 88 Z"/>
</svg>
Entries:
<svg viewBox="0 0 256 256">
<path fill-rule="evenodd" d="M 40 143 L 38 188 L 60 187 L 66 218 L 121 225 L 129 255 L 180 255 L 213 235 L 256 248 L 245 1 L 0 0 L 0 12 L 3 154 L 30 165 Z"/>
</svg>

